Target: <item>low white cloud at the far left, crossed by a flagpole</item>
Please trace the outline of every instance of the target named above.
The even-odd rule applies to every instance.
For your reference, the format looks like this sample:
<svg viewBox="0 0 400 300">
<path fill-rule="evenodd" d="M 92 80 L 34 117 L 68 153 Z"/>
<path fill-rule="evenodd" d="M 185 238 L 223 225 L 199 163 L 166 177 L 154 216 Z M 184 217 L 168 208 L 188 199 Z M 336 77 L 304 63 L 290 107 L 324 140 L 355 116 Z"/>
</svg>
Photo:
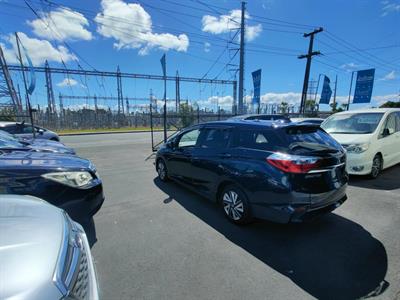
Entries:
<svg viewBox="0 0 400 300">
<path fill-rule="evenodd" d="M 71 60 L 78 60 L 74 54 L 70 53 L 68 49 L 63 46 L 55 48 L 49 41 L 30 38 L 23 32 L 18 32 L 18 36 L 35 66 L 44 64 L 46 60 L 59 63 L 61 63 L 61 61 L 68 62 Z M 15 36 L 9 34 L 3 37 L 3 39 L 6 40 L 10 46 L 8 47 L 7 45 L 1 44 L 6 61 L 11 64 L 18 63 L 18 49 Z"/>
</svg>

